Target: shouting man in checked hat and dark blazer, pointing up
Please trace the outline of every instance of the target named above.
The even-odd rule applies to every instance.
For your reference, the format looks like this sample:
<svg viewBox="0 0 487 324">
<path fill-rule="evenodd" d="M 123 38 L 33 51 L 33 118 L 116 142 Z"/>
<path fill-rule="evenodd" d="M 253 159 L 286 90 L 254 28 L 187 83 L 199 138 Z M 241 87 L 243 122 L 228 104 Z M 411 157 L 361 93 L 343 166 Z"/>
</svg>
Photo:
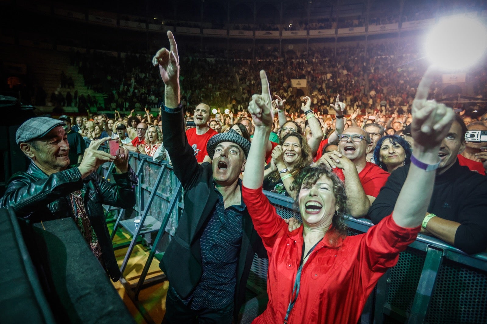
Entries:
<svg viewBox="0 0 487 324">
<path fill-rule="evenodd" d="M 176 42 L 168 36 L 170 51 L 159 50 L 153 64 L 165 84 L 164 146 L 185 207 L 159 264 L 169 279 L 163 323 L 229 324 L 243 304 L 255 253 L 266 257 L 241 194 L 250 142 L 233 130 L 217 134 L 206 144 L 211 164 L 198 164 L 185 133 Z"/>
</svg>

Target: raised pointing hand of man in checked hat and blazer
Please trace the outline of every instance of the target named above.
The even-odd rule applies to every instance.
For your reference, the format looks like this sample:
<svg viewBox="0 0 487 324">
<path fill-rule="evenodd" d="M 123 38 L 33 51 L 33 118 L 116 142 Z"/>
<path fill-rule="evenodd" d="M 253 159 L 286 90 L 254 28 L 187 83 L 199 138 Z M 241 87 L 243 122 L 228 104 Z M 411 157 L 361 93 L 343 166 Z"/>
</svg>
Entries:
<svg viewBox="0 0 487 324">
<path fill-rule="evenodd" d="M 159 65 L 162 81 L 165 84 L 179 82 L 179 54 L 174 35 L 168 31 L 170 50 L 162 48 L 152 58 L 154 66 Z"/>
</svg>

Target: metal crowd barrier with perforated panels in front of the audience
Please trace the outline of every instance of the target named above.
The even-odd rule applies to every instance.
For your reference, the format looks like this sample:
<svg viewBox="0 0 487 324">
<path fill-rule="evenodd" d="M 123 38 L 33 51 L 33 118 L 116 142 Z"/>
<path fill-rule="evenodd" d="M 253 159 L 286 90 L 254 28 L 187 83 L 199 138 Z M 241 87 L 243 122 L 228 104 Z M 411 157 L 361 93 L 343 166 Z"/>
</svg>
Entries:
<svg viewBox="0 0 487 324">
<path fill-rule="evenodd" d="M 119 213 L 114 231 L 122 225 L 132 235 L 121 270 L 139 235 L 152 234 L 150 256 L 134 294 L 144 284 L 153 257 L 162 258 L 184 208 L 183 189 L 167 162 L 153 162 L 147 155 L 132 153 L 130 162 L 139 176 L 135 214 L 142 216 L 141 226 L 133 218 L 122 220 Z M 112 165 L 102 172 L 111 179 Z M 283 218 L 294 215 L 291 198 L 266 192 Z M 143 224 L 143 225 L 142 225 Z M 347 220 L 349 234 L 366 232 L 373 226 L 365 218 Z M 247 283 L 246 299 L 262 296 L 266 290 L 267 260 L 254 257 Z M 487 323 L 487 253 L 468 255 L 436 238 L 419 234 L 399 255 L 397 265 L 378 281 L 374 294 L 362 314 L 361 323 Z"/>
</svg>

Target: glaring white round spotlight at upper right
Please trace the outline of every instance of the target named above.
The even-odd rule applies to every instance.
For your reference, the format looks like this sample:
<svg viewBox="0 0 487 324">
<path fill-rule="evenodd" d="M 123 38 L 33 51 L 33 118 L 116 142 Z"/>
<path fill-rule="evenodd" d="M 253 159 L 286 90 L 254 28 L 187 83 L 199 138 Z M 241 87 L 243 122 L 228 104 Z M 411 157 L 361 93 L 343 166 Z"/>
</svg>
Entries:
<svg viewBox="0 0 487 324">
<path fill-rule="evenodd" d="M 425 50 L 431 64 L 441 70 L 466 69 L 486 53 L 486 27 L 474 18 L 445 18 L 431 29 Z"/>
</svg>

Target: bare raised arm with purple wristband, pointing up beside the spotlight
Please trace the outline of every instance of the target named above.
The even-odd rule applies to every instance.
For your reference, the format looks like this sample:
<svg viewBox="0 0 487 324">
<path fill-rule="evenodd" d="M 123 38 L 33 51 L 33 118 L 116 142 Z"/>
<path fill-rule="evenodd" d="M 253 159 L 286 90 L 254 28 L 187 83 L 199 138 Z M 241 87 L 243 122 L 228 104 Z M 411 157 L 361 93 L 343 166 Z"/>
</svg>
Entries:
<svg viewBox="0 0 487 324">
<path fill-rule="evenodd" d="M 421 225 L 433 193 L 436 168 L 425 170 L 427 165 L 438 167 L 438 152 L 442 140 L 447 135 L 453 110 L 436 101 L 427 101 L 433 80 L 433 70 L 429 68 L 419 83 L 412 103 L 411 132 L 414 144 L 409 173 L 394 206 L 393 219 L 401 227 L 412 228 Z M 414 162 L 418 160 L 423 163 Z M 431 170 L 432 169 L 432 170 Z"/>
</svg>

